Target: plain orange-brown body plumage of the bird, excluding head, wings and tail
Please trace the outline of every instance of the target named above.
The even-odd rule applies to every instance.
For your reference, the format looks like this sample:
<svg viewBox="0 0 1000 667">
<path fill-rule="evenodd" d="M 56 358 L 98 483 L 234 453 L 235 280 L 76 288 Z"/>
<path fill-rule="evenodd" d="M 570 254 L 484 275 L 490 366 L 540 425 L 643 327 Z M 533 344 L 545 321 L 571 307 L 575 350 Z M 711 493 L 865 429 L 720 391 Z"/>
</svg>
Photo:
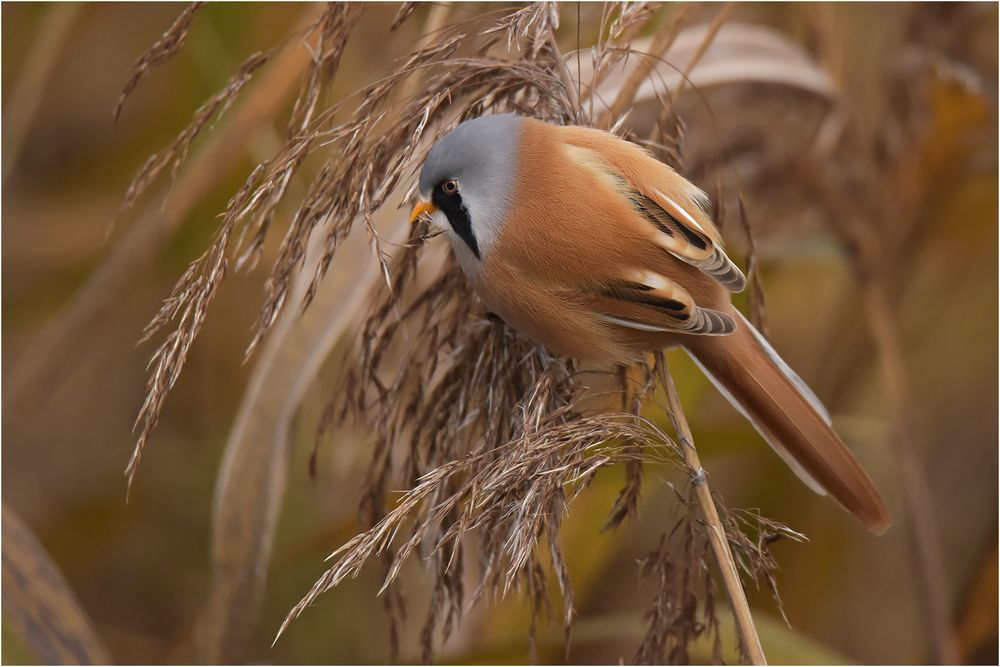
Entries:
<svg viewBox="0 0 1000 667">
<path fill-rule="evenodd" d="M 623 361 L 678 344 L 683 334 L 600 320 L 588 307 L 594 298 L 588 290 L 640 269 L 670 278 L 709 308 L 728 309 L 729 295 L 698 268 L 652 243 L 649 223 L 567 149 L 585 145 L 627 170 L 650 167 L 647 159 L 659 163 L 611 135 L 580 130 L 525 120 L 513 188 L 518 197 L 484 258 L 479 292 L 510 324 L 577 358 Z"/>
</svg>

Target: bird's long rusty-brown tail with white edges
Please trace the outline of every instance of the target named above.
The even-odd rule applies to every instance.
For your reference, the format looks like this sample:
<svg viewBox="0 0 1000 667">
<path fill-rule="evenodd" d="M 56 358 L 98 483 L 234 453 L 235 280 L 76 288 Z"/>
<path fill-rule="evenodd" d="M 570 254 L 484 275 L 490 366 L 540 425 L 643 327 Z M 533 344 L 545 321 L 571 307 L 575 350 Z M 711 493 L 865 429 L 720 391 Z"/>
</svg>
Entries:
<svg viewBox="0 0 1000 667">
<path fill-rule="evenodd" d="M 889 511 L 834 433 L 826 409 L 753 325 L 737 318 L 734 333 L 692 336 L 688 351 L 810 488 L 831 495 L 873 533 L 884 533 Z"/>
</svg>

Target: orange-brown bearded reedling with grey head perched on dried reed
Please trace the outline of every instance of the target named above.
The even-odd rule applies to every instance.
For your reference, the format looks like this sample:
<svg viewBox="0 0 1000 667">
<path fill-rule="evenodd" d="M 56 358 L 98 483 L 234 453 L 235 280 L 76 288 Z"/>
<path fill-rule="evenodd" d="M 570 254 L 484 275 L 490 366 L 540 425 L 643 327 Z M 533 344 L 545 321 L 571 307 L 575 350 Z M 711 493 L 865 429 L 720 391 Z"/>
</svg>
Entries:
<svg viewBox="0 0 1000 667">
<path fill-rule="evenodd" d="M 815 394 L 730 303 L 746 285 L 705 194 L 607 132 L 513 114 L 431 149 L 421 201 L 476 293 L 550 349 L 604 363 L 684 347 L 814 491 L 874 533 L 891 519 Z"/>
</svg>

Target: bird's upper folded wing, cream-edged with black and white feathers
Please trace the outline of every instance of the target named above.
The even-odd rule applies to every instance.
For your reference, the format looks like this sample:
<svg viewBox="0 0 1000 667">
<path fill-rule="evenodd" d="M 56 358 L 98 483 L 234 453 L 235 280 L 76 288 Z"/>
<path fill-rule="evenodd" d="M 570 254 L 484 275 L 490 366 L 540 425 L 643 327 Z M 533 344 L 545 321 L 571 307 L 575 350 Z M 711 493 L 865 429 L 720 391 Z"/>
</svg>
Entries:
<svg viewBox="0 0 1000 667">
<path fill-rule="evenodd" d="M 697 267 L 730 292 L 746 278 L 726 255 L 718 230 L 703 209 L 705 194 L 638 146 L 593 130 L 573 128 L 569 156 L 600 172 L 649 225 L 654 243 Z"/>
</svg>

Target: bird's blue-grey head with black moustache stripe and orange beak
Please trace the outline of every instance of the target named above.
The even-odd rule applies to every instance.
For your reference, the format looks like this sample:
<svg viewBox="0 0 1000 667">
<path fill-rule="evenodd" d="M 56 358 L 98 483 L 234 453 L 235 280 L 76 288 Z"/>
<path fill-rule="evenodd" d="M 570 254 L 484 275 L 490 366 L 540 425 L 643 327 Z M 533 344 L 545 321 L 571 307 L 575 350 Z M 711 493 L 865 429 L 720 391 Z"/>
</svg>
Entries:
<svg viewBox="0 0 1000 667">
<path fill-rule="evenodd" d="M 426 211 L 445 230 L 466 271 L 475 272 L 510 209 L 522 119 L 467 120 L 441 137 L 420 171 L 414 215 Z"/>
</svg>

